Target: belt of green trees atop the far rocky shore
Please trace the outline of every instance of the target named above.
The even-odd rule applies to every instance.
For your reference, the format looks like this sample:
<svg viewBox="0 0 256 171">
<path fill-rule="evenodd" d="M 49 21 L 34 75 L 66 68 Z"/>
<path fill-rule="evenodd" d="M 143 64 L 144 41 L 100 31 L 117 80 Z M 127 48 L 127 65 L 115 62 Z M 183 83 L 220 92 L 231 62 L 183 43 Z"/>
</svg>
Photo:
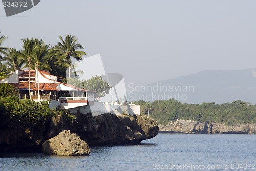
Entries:
<svg viewBox="0 0 256 171">
<path fill-rule="evenodd" d="M 135 103 L 141 105 L 141 113 L 144 113 L 148 104 L 144 101 Z M 180 103 L 174 99 L 159 100 L 151 103 L 151 109 L 151 117 L 156 119 L 159 124 L 174 122 L 177 119 L 216 122 L 227 125 L 256 123 L 256 105 L 241 100 L 225 104 L 202 103 L 201 105 Z"/>
</svg>

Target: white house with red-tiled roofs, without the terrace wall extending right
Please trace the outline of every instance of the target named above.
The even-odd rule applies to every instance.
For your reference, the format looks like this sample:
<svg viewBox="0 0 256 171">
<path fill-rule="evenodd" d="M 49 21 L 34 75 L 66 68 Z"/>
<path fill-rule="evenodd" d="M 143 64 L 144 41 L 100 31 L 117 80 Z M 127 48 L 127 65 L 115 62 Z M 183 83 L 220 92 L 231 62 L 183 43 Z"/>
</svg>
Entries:
<svg viewBox="0 0 256 171">
<path fill-rule="evenodd" d="M 20 99 L 34 101 L 51 100 L 50 106 L 61 105 L 65 109 L 87 106 L 94 103 L 94 92 L 62 82 L 63 78 L 44 70 L 16 70 L 0 83 L 12 84 L 20 91 Z M 29 94 L 30 89 L 30 94 Z"/>
</svg>

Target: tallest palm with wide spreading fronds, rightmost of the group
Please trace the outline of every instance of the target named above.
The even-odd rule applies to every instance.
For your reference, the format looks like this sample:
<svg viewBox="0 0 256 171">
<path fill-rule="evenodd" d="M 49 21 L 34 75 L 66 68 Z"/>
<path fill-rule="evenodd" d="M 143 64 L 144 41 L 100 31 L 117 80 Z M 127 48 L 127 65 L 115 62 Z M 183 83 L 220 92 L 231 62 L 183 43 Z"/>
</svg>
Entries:
<svg viewBox="0 0 256 171">
<path fill-rule="evenodd" d="M 82 60 L 82 55 L 86 55 L 86 52 L 80 51 L 79 49 L 83 49 L 83 46 L 77 42 L 77 38 L 75 36 L 66 35 L 65 39 L 59 36 L 60 42 L 58 42 L 57 50 L 58 53 L 66 59 L 66 62 L 69 66 L 71 66 L 71 57 L 76 60 Z M 69 78 L 70 78 L 70 67 L 69 67 Z"/>
</svg>

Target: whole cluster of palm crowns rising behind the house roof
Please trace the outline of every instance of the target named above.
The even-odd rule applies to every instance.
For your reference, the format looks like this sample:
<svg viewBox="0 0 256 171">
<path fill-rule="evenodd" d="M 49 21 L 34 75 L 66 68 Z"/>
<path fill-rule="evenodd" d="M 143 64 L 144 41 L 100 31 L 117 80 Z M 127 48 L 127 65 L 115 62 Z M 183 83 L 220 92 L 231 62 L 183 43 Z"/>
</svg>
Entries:
<svg viewBox="0 0 256 171">
<path fill-rule="evenodd" d="M 15 48 L 1 47 L 6 39 L 5 36 L 0 36 L 0 76 L 6 78 L 17 69 L 29 70 L 46 70 L 52 75 L 66 78 L 68 69 L 68 77 L 70 75 L 79 77 L 83 74 L 82 71 L 75 71 L 71 59 L 78 61 L 82 60 L 82 55 L 86 52 L 81 51 L 83 46 L 77 42 L 77 38 L 72 35 L 61 37 L 60 42 L 55 46 L 46 44 L 44 40 L 38 38 L 24 38 L 23 49 L 16 50 Z"/>
</svg>

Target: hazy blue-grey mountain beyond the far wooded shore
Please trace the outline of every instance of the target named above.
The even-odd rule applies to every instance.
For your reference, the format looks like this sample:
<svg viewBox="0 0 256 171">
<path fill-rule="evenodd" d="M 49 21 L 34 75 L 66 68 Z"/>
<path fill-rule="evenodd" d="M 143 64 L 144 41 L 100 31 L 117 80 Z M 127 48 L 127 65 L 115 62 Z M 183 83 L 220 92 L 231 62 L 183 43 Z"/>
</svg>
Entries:
<svg viewBox="0 0 256 171">
<path fill-rule="evenodd" d="M 256 69 L 206 70 L 197 74 L 140 86 L 127 95 L 128 99 L 132 101 L 155 101 L 174 98 L 182 103 L 215 102 L 221 104 L 241 99 L 255 104 Z"/>
</svg>

